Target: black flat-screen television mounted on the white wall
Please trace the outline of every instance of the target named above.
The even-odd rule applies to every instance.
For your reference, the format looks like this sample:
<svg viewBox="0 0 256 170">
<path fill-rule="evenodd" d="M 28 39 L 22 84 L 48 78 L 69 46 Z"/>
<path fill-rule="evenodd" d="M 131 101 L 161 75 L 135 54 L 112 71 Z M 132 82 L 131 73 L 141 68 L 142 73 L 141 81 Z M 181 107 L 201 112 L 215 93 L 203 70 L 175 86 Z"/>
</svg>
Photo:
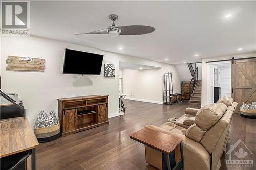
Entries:
<svg viewBox="0 0 256 170">
<path fill-rule="evenodd" d="M 63 74 L 100 75 L 103 55 L 65 50 Z"/>
</svg>

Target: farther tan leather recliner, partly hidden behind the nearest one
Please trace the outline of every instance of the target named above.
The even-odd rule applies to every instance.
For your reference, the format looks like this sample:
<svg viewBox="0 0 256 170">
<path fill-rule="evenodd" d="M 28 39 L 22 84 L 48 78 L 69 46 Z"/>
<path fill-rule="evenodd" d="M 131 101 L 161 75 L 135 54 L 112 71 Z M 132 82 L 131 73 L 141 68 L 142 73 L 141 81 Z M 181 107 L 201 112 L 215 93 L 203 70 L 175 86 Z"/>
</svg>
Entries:
<svg viewBox="0 0 256 170">
<path fill-rule="evenodd" d="M 223 97 L 217 101 L 217 103 L 224 103 L 227 107 L 232 106 L 234 107 L 234 110 L 236 110 L 236 107 L 238 105 L 237 102 L 234 102 L 233 98 L 231 97 Z M 189 126 L 193 125 L 195 123 L 195 116 L 197 114 L 199 109 L 195 108 L 186 108 L 185 114 L 181 117 L 174 117 L 169 118 L 168 122 L 172 122 L 178 126 L 189 128 Z"/>
</svg>

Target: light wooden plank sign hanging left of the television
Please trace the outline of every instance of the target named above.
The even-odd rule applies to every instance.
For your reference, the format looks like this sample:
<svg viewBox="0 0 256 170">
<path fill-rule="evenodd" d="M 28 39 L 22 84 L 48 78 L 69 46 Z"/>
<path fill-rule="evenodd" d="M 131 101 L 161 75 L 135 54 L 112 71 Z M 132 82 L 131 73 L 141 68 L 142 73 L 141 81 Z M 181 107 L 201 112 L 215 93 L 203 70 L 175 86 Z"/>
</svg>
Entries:
<svg viewBox="0 0 256 170">
<path fill-rule="evenodd" d="M 8 56 L 7 71 L 45 71 L 45 59 Z"/>
</svg>

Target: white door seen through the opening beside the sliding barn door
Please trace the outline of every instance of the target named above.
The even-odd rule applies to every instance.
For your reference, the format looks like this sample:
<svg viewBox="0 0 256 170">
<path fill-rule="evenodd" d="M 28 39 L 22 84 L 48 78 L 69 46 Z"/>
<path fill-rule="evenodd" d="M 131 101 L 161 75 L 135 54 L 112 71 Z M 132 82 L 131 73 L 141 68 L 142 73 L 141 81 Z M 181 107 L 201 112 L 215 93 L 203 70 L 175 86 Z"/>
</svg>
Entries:
<svg viewBox="0 0 256 170">
<path fill-rule="evenodd" d="M 231 96 L 231 69 L 220 69 L 221 98 Z"/>
</svg>

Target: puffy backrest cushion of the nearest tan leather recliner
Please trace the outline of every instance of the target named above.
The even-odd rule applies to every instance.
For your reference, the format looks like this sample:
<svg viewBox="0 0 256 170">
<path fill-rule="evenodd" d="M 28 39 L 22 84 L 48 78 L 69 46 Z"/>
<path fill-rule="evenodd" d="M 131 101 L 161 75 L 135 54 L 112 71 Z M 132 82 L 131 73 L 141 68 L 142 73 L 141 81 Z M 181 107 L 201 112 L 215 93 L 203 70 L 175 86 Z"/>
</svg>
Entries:
<svg viewBox="0 0 256 170">
<path fill-rule="evenodd" d="M 195 124 L 187 129 L 186 136 L 200 142 L 205 133 L 218 123 L 226 111 L 227 106 L 223 103 L 214 103 L 202 107 L 195 116 Z"/>
</svg>

